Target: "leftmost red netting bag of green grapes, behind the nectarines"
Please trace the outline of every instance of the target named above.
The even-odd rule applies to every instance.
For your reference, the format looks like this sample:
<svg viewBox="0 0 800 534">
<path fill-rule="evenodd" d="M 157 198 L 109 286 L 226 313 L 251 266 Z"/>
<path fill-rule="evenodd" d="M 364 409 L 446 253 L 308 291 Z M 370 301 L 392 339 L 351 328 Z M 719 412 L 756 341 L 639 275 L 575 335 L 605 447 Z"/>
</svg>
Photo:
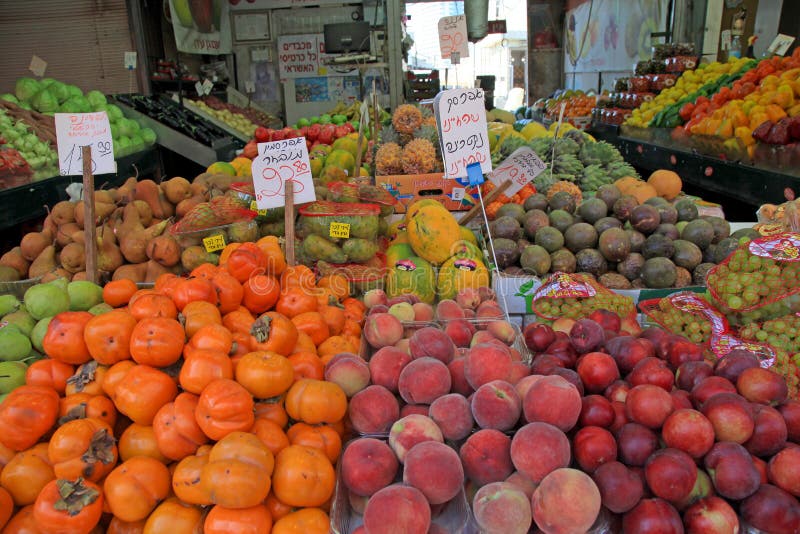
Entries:
<svg viewBox="0 0 800 534">
<path fill-rule="evenodd" d="M 608 310 L 623 320 L 636 321 L 633 299 L 614 293 L 580 274 L 554 273 L 533 294 L 531 309 L 543 319 L 582 319 L 595 310 Z"/>
</svg>

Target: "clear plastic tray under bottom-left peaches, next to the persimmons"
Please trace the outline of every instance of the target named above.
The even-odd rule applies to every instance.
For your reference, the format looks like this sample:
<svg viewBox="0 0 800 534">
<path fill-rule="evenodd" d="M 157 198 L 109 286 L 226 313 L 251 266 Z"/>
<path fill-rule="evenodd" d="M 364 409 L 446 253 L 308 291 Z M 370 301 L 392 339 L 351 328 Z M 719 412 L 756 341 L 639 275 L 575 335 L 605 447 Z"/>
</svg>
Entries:
<svg viewBox="0 0 800 534">
<path fill-rule="evenodd" d="M 364 436 L 370 437 L 370 436 Z M 375 436 L 371 436 L 375 437 Z M 359 439 L 359 438 L 356 438 Z M 378 438 L 376 439 L 384 439 Z M 344 450 L 353 443 L 351 440 L 345 445 Z M 357 514 L 350 506 L 350 499 L 348 497 L 349 490 L 344 485 L 342 480 L 342 462 L 340 461 L 336 467 L 336 488 L 333 493 L 333 502 L 331 503 L 331 532 L 334 534 L 350 534 L 359 526 L 364 523 L 361 515 Z M 402 481 L 402 465 L 398 469 L 398 476 L 396 482 Z M 466 532 L 466 528 L 470 522 L 471 511 L 469 503 L 467 502 L 467 495 L 464 492 L 464 487 L 458 495 L 448 501 L 441 512 L 435 517 L 431 516 L 431 523 L 442 527 L 445 531 L 452 534 L 460 534 Z"/>
</svg>

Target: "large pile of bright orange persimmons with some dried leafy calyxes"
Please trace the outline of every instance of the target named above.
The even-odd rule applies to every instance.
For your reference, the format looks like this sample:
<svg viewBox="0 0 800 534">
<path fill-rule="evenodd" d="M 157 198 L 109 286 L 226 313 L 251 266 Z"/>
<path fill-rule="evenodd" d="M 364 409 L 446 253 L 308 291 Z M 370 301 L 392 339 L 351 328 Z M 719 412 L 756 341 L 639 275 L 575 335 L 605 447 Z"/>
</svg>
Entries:
<svg viewBox="0 0 800 534">
<path fill-rule="evenodd" d="M 0 404 L 3 533 L 327 533 L 363 305 L 275 238 L 65 312 Z"/>
</svg>

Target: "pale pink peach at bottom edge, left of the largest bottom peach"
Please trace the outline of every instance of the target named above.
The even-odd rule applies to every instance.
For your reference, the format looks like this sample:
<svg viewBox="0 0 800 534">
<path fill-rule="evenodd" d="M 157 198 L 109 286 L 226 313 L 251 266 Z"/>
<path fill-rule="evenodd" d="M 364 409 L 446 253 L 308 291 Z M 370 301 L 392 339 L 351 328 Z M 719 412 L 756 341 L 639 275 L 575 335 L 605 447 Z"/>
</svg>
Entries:
<svg viewBox="0 0 800 534">
<path fill-rule="evenodd" d="M 529 498 L 513 484 L 492 482 L 472 500 L 475 522 L 487 534 L 526 534 L 531 528 Z"/>
</svg>

